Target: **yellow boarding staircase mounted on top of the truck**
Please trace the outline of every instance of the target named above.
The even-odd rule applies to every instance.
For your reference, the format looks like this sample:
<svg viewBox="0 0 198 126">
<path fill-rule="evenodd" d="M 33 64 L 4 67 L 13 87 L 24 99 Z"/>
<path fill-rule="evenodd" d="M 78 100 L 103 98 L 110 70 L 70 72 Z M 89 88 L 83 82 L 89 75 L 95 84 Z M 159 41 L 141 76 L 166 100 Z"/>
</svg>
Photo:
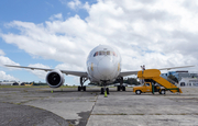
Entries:
<svg viewBox="0 0 198 126">
<path fill-rule="evenodd" d="M 161 84 L 162 87 L 165 88 L 166 91 L 170 91 L 173 93 L 179 92 L 183 93 L 183 91 L 175 84 L 170 83 L 169 81 L 167 81 L 166 79 L 161 77 L 161 71 L 158 69 L 147 69 L 144 71 L 139 71 L 138 72 L 138 78 L 139 79 L 151 79 L 155 82 L 157 82 L 158 84 Z M 154 94 L 154 91 L 153 91 Z"/>
</svg>

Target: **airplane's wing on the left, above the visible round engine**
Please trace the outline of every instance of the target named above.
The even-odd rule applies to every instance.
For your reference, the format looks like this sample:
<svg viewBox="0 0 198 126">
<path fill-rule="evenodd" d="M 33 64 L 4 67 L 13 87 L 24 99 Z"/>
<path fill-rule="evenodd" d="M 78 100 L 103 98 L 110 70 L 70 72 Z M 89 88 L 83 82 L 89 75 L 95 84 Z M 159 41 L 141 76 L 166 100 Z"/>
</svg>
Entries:
<svg viewBox="0 0 198 126">
<path fill-rule="evenodd" d="M 47 69 L 47 68 L 34 68 L 34 67 L 23 67 L 23 66 L 11 66 L 11 65 L 4 65 L 7 67 L 14 67 L 14 68 L 24 68 L 24 69 L 31 69 L 31 70 L 44 70 L 44 71 L 53 71 L 54 69 Z M 61 70 L 65 75 L 73 75 L 78 77 L 87 77 L 86 71 L 69 71 L 69 70 Z"/>
</svg>

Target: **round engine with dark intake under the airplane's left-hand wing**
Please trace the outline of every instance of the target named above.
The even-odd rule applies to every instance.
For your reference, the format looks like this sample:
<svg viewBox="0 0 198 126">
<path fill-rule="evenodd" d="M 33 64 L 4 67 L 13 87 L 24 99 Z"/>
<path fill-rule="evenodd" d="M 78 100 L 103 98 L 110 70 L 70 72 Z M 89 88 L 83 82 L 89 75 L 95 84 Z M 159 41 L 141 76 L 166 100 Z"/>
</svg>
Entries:
<svg viewBox="0 0 198 126">
<path fill-rule="evenodd" d="M 65 82 L 64 75 L 57 69 L 50 71 L 46 76 L 46 83 L 51 88 L 58 88 L 64 82 Z"/>
</svg>

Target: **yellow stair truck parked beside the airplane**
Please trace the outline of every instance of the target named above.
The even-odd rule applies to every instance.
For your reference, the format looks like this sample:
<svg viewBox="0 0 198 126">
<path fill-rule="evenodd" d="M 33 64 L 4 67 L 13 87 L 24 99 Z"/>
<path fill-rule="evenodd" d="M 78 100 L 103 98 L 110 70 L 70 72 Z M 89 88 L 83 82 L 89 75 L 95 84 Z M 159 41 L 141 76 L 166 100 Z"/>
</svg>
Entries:
<svg viewBox="0 0 198 126">
<path fill-rule="evenodd" d="M 173 93 L 179 92 L 183 93 L 179 88 L 177 88 L 175 84 L 170 83 L 166 79 L 161 77 L 161 71 L 158 69 L 147 69 L 144 71 L 138 72 L 138 78 L 140 80 L 144 80 L 142 87 L 134 87 L 133 92 L 136 94 L 145 93 L 145 92 L 158 92 L 160 94 L 165 94 L 166 91 L 170 91 Z M 160 85 L 155 85 L 155 83 L 158 83 Z"/>
</svg>

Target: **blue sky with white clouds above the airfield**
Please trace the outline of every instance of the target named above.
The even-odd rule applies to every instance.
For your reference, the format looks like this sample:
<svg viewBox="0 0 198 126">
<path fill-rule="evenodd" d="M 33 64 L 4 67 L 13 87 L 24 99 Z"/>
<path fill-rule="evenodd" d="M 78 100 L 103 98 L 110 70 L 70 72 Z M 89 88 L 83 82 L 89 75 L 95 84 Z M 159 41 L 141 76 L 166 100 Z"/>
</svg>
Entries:
<svg viewBox="0 0 198 126">
<path fill-rule="evenodd" d="M 3 65 L 86 71 L 100 44 L 120 51 L 122 71 L 141 65 L 198 71 L 197 13 L 197 0 L 2 0 L 0 81 L 44 82 L 47 73 Z M 79 78 L 65 76 L 65 83 Z"/>
</svg>

